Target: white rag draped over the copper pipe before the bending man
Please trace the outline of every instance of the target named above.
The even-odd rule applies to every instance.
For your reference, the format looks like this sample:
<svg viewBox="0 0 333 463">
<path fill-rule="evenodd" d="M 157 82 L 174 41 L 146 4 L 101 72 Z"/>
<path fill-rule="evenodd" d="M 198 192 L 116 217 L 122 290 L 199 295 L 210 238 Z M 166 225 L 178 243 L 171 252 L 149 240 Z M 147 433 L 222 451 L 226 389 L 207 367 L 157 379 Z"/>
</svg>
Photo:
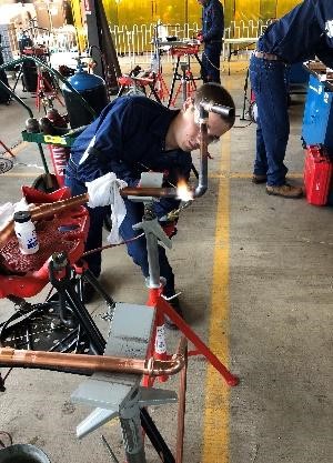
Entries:
<svg viewBox="0 0 333 463">
<path fill-rule="evenodd" d="M 118 244 L 122 241 L 119 235 L 119 227 L 125 218 L 127 208 L 119 190 L 127 185 L 127 182 L 117 179 L 113 172 L 85 183 L 89 194 L 89 208 L 93 209 L 111 204 L 112 229 L 107 238 L 110 244 Z"/>
</svg>

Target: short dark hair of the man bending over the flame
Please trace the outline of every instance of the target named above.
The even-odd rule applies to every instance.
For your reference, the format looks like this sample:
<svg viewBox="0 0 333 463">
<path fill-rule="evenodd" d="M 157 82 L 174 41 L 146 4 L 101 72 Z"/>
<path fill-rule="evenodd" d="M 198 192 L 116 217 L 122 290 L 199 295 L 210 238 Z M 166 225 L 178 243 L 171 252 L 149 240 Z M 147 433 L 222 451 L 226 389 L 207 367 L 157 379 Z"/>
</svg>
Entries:
<svg viewBox="0 0 333 463">
<path fill-rule="evenodd" d="M 224 89 L 220 83 L 215 82 L 208 82 L 201 85 L 194 95 L 194 107 L 199 108 L 200 101 L 209 101 L 213 102 L 214 104 L 222 104 L 224 107 L 230 107 L 235 109 L 234 101 L 229 93 L 228 90 Z M 233 111 L 233 115 L 231 117 L 223 117 L 221 115 L 221 119 L 228 123 L 228 125 L 232 127 L 235 121 L 235 115 Z"/>
</svg>

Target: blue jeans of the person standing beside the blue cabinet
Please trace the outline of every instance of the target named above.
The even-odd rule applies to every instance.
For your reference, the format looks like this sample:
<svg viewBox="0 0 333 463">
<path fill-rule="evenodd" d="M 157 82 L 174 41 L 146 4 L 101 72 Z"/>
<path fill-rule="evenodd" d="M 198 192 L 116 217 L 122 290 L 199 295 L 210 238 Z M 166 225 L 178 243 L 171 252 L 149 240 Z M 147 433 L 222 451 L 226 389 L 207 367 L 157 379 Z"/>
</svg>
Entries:
<svg viewBox="0 0 333 463">
<path fill-rule="evenodd" d="M 268 175 L 268 185 L 285 183 L 284 165 L 290 133 L 286 69 L 282 61 L 252 54 L 250 81 L 258 105 L 256 154 L 253 173 Z"/>
</svg>

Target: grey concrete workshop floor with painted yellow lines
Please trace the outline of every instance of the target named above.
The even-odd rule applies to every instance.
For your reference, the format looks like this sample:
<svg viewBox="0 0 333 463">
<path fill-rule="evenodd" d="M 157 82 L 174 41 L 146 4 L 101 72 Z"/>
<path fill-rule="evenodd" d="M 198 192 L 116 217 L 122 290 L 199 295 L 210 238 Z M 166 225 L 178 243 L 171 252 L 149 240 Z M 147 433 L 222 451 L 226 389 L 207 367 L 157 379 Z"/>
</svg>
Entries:
<svg viewBox="0 0 333 463">
<path fill-rule="evenodd" d="M 223 72 L 239 117 L 245 71 L 246 62 L 235 61 L 230 76 Z M 292 95 L 286 154 L 289 178 L 299 185 L 303 100 Z M 333 209 L 270 197 L 252 184 L 255 125 L 239 117 L 211 147 L 209 192 L 182 213 L 168 252 L 185 320 L 240 379 L 229 387 L 202 358 L 190 359 L 183 462 L 332 463 Z M 42 172 L 36 147 L 19 142 L 26 119 L 18 103 L 0 105 L 0 140 L 17 144 L 14 168 L 1 175 L 1 203 L 18 200 L 21 184 Z M 122 246 L 104 252 L 101 281 L 117 301 L 145 301 L 140 271 Z M 1 300 L 0 321 L 12 310 Z M 97 299 L 89 310 L 107 333 L 105 306 Z M 178 338 L 168 332 L 171 351 Z M 91 412 L 70 400 L 82 381 L 12 371 L 0 393 L 0 430 L 14 443 L 41 447 L 52 463 L 110 462 L 103 434 L 123 461 L 118 421 L 77 440 L 75 426 Z M 176 380 L 162 386 L 176 389 Z M 176 406 L 151 414 L 174 446 Z M 148 461 L 159 461 L 149 444 Z"/>
</svg>

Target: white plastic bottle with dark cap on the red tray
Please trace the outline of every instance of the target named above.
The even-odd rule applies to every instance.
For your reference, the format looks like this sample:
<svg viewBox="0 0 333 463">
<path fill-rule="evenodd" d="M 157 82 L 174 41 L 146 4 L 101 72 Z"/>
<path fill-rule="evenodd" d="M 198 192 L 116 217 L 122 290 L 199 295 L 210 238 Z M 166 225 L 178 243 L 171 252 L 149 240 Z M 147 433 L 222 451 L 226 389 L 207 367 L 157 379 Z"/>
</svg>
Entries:
<svg viewBox="0 0 333 463">
<path fill-rule="evenodd" d="M 34 254 L 39 250 L 34 224 L 29 211 L 18 211 L 13 215 L 14 231 L 22 254 Z"/>
</svg>

